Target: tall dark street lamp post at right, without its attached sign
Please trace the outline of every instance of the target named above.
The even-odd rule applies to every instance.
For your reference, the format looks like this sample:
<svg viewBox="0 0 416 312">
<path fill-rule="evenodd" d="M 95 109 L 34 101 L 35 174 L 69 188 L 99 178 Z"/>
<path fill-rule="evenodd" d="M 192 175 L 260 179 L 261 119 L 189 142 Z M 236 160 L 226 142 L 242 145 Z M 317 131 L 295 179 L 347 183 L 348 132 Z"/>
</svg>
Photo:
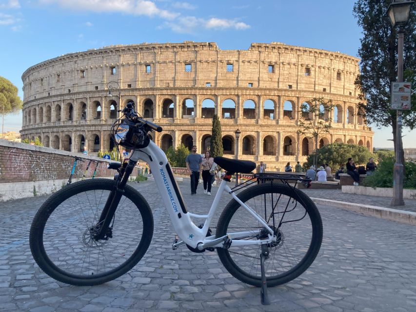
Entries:
<svg viewBox="0 0 416 312">
<path fill-rule="evenodd" d="M 403 26 L 407 24 L 410 16 L 410 8 L 414 1 L 392 0 L 387 15 L 393 28 L 398 26 L 397 44 L 397 82 L 403 81 Z M 391 206 L 402 206 L 403 201 L 403 164 L 401 163 L 401 110 L 396 110 L 396 162 L 393 169 L 393 199 Z"/>
</svg>

